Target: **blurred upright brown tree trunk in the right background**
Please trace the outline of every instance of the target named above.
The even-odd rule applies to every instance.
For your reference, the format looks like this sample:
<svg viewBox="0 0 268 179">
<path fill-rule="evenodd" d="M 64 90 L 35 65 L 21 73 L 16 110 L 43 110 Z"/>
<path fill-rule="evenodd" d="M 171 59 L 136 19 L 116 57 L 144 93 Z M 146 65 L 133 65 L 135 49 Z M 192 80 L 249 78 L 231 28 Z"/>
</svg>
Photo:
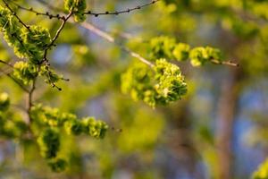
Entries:
<svg viewBox="0 0 268 179">
<path fill-rule="evenodd" d="M 222 91 L 218 105 L 218 121 L 216 132 L 219 160 L 218 178 L 220 179 L 233 178 L 232 139 L 237 100 L 239 98 L 238 84 L 238 70 L 231 71 L 230 77 L 222 83 Z"/>
</svg>

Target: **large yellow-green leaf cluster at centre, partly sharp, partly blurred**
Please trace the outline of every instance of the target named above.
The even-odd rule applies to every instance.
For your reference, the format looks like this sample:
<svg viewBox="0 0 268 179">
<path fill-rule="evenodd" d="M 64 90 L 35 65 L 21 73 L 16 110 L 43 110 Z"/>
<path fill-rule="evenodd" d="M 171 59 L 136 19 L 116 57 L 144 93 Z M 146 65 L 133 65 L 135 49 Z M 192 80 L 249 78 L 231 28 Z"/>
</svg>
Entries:
<svg viewBox="0 0 268 179">
<path fill-rule="evenodd" d="M 167 105 L 187 92 L 187 84 L 180 68 L 165 59 L 156 60 L 151 69 L 135 63 L 121 75 L 121 90 L 134 100 L 143 100 L 149 106 Z"/>
</svg>

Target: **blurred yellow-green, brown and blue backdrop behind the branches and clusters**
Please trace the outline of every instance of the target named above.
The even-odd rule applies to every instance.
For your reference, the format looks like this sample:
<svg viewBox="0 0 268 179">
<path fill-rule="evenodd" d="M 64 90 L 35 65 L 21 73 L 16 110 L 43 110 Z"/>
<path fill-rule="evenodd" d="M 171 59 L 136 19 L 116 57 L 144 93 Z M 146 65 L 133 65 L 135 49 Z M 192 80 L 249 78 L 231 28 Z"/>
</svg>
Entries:
<svg viewBox="0 0 268 179">
<path fill-rule="evenodd" d="M 56 13 L 47 4 L 63 9 L 63 1 L 16 2 L 41 12 Z M 87 2 L 88 9 L 105 12 L 149 1 Z M 188 95 L 155 109 L 121 94 L 121 72 L 136 59 L 80 24 L 68 23 L 50 61 L 71 81 L 60 83 L 63 91 L 38 81 L 35 100 L 79 116 L 94 115 L 114 130 L 100 141 L 64 136 L 70 167 L 61 174 L 49 170 L 36 146 L 22 148 L 18 141 L 0 138 L 0 178 L 250 178 L 268 154 L 267 9 L 266 0 L 161 0 L 133 13 L 89 16 L 88 22 L 145 57 L 150 38 L 168 36 L 192 47 L 218 47 L 226 59 L 239 63 L 198 68 L 178 63 Z M 60 25 L 18 14 L 51 33 Z M 0 58 L 15 58 L 3 38 Z M 13 104 L 24 106 L 24 94 L 4 75 L 0 89 L 8 91 Z"/>
</svg>

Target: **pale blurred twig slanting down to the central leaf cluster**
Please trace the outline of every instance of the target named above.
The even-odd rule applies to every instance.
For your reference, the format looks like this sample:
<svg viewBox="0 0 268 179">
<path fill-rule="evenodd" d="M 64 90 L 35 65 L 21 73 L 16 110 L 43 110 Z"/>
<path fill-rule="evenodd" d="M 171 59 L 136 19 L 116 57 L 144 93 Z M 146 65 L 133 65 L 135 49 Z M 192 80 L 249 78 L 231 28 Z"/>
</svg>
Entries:
<svg viewBox="0 0 268 179">
<path fill-rule="evenodd" d="M 131 51 L 128 47 L 124 47 L 119 43 L 115 42 L 115 39 L 108 34 L 107 32 L 105 32 L 104 30 L 100 30 L 98 28 L 96 28 L 95 26 L 93 26 L 92 24 L 88 23 L 88 22 L 83 22 L 81 23 L 81 26 L 87 30 L 92 31 L 93 33 L 95 33 L 96 35 L 98 35 L 101 38 L 105 38 L 107 41 L 115 44 L 116 46 L 120 47 L 123 51 L 127 52 L 128 54 L 130 54 L 131 56 L 137 58 L 139 61 L 149 65 L 150 67 L 153 67 L 154 64 L 150 63 L 147 59 L 145 59 L 144 57 L 142 57 L 141 55 L 137 54 L 136 52 Z"/>
</svg>

